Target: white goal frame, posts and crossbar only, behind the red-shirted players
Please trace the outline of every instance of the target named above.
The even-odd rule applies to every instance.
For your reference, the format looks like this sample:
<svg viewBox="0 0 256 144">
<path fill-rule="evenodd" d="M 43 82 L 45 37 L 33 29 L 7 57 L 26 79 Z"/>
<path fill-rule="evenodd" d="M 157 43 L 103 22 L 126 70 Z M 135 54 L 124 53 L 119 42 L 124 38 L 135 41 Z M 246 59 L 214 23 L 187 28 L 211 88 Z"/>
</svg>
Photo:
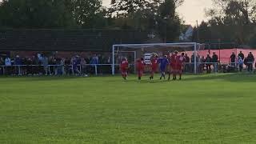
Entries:
<svg viewBox="0 0 256 144">
<path fill-rule="evenodd" d="M 143 47 L 143 46 L 145 46 L 145 47 Z M 148 46 L 148 47 L 146 47 L 146 46 Z M 112 46 L 112 75 L 115 74 L 114 66 L 116 64 L 115 64 L 115 60 L 114 60 L 114 55 L 115 55 L 115 50 L 117 50 L 117 48 L 119 48 L 119 47 L 127 47 L 127 48 L 132 47 L 132 49 L 142 49 L 142 48 L 150 49 L 150 48 L 154 48 L 154 46 L 187 46 L 187 47 L 191 46 L 191 47 L 194 47 L 194 54 L 197 54 L 196 53 L 197 52 L 197 46 L 201 46 L 201 44 L 197 43 L 197 42 L 175 42 L 175 43 L 145 43 L 145 44 L 117 44 L 117 45 L 113 45 Z M 194 74 L 197 74 L 197 57 L 196 56 L 194 56 Z"/>
</svg>

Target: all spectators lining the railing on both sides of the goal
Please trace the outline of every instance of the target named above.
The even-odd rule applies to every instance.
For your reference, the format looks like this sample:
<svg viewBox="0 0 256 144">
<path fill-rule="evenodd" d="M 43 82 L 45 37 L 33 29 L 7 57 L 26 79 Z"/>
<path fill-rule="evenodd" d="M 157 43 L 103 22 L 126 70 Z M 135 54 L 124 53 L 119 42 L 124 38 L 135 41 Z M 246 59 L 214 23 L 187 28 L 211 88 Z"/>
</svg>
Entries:
<svg viewBox="0 0 256 144">
<path fill-rule="evenodd" d="M 120 57 L 121 58 L 121 57 Z M 118 59 L 116 63 L 118 63 Z M 128 57 L 129 59 L 132 59 Z M 198 73 L 212 72 L 234 72 L 246 68 L 248 72 L 254 70 L 254 55 L 250 52 L 247 56 L 232 53 L 230 63 L 220 62 L 218 55 L 207 54 L 206 57 L 192 54 L 190 57 L 185 54 L 184 72 L 194 73 L 194 62 L 197 62 Z M 63 58 L 56 55 L 35 54 L 31 57 L 12 58 L 0 56 L 0 75 L 88 75 L 88 74 L 111 74 L 111 54 L 91 54 L 87 56 L 75 55 L 70 58 Z M 255 63 L 256 67 L 256 63 Z"/>
</svg>

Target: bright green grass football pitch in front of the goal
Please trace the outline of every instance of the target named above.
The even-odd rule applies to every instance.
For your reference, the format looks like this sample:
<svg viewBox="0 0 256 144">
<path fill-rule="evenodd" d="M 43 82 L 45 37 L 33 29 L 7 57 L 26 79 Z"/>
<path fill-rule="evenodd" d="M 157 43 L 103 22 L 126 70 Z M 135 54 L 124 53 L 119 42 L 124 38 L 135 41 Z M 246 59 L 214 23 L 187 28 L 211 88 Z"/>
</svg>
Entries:
<svg viewBox="0 0 256 144">
<path fill-rule="evenodd" d="M 256 143 L 256 75 L 0 78 L 0 143 Z"/>
</svg>

